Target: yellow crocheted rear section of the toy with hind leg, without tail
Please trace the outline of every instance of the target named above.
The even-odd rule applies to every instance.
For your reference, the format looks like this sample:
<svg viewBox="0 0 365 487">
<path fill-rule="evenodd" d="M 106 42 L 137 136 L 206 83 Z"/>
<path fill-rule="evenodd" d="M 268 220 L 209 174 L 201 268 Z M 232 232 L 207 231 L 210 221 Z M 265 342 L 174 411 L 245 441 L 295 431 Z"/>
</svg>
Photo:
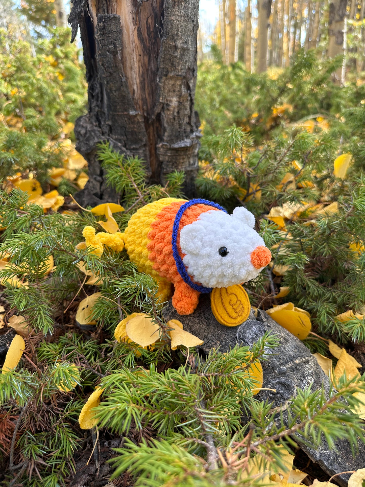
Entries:
<svg viewBox="0 0 365 487">
<path fill-rule="evenodd" d="M 123 234 L 129 259 L 137 265 L 140 272 L 145 272 L 159 281 L 159 292 L 161 293 L 162 301 L 170 298 L 171 282 L 162 278 L 153 269 L 153 264 L 148 259 L 149 251 L 147 250 L 147 244 L 150 242 L 150 239 L 147 238 L 147 234 L 152 222 L 156 220 L 156 216 L 162 211 L 164 206 L 171 205 L 175 201 L 185 202 L 186 200 L 180 198 L 163 198 L 143 206 L 132 215 Z"/>
</svg>

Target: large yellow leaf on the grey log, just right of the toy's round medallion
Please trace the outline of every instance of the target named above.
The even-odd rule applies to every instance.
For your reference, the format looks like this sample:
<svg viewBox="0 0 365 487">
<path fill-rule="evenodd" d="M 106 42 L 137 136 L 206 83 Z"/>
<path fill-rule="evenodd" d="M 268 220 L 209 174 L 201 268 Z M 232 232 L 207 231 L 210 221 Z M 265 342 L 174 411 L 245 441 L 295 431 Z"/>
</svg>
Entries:
<svg viewBox="0 0 365 487">
<path fill-rule="evenodd" d="M 310 315 L 301 308 L 295 308 L 293 303 L 284 303 L 274 306 L 266 313 L 283 328 L 291 332 L 295 337 L 304 340 L 310 332 Z"/>
</svg>

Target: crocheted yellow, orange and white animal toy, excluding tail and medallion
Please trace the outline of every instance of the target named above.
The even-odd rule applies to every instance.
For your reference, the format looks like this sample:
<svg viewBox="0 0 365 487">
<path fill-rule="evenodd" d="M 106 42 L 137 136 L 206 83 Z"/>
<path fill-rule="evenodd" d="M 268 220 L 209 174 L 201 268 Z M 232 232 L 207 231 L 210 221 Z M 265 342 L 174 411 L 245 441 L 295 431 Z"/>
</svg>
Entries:
<svg viewBox="0 0 365 487">
<path fill-rule="evenodd" d="M 243 206 L 229 215 L 216 203 L 163 198 L 140 208 L 122 238 L 138 270 L 159 281 L 180 315 L 197 307 L 200 293 L 250 281 L 271 261 Z"/>
</svg>

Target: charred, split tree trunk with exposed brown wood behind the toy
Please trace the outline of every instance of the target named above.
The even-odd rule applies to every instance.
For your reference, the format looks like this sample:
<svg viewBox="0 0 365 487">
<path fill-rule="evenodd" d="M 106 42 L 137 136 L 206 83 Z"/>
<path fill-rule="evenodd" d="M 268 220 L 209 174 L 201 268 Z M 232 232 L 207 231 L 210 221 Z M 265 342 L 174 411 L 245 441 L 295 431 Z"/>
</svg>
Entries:
<svg viewBox="0 0 365 487">
<path fill-rule="evenodd" d="M 145 162 L 150 182 L 185 172 L 194 193 L 199 118 L 194 111 L 199 0 L 75 0 L 72 41 L 80 26 L 89 111 L 75 123 L 76 149 L 89 162 L 82 206 L 116 201 L 95 156 L 109 141 Z"/>
</svg>

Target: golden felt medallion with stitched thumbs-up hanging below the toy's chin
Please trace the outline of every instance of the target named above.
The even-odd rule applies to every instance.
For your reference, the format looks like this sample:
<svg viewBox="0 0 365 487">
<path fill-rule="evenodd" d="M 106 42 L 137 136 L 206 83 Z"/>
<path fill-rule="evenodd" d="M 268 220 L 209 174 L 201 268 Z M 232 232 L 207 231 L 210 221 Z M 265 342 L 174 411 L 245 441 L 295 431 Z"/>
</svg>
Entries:
<svg viewBox="0 0 365 487">
<path fill-rule="evenodd" d="M 216 287 L 210 294 L 210 307 L 216 320 L 225 326 L 237 326 L 246 321 L 251 304 L 240 284 Z"/>
</svg>

